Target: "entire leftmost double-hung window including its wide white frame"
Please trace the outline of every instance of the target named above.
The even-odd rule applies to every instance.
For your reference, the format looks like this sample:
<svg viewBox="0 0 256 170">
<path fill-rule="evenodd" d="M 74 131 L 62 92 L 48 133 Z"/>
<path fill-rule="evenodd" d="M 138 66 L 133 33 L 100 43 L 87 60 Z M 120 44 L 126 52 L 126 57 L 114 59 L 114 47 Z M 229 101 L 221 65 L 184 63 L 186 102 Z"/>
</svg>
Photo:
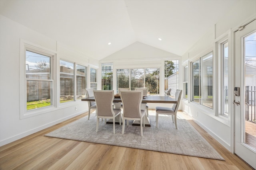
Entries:
<svg viewBox="0 0 256 170">
<path fill-rule="evenodd" d="M 55 106 L 56 52 L 20 40 L 20 118 L 46 113 Z"/>
</svg>

